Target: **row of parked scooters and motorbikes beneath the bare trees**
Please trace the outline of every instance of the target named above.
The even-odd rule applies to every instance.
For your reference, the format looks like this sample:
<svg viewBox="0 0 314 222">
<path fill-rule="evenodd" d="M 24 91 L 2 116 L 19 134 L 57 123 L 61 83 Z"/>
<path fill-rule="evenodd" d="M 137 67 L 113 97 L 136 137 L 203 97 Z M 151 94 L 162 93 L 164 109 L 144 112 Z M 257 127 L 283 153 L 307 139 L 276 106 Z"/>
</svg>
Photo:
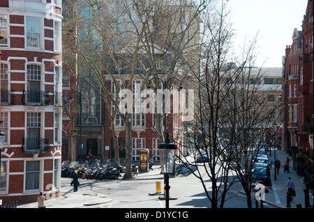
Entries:
<svg viewBox="0 0 314 222">
<path fill-rule="evenodd" d="M 116 166 L 110 166 L 110 161 L 103 166 L 100 166 L 100 160 L 96 159 L 94 164 L 89 164 L 89 161 L 63 161 L 61 177 L 72 177 L 76 171 L 82 179 L 87 180 L 117 180 L 121 171 L 124 170 L 124 166 L 121 166 L 118 162 Z"/>
</svg>

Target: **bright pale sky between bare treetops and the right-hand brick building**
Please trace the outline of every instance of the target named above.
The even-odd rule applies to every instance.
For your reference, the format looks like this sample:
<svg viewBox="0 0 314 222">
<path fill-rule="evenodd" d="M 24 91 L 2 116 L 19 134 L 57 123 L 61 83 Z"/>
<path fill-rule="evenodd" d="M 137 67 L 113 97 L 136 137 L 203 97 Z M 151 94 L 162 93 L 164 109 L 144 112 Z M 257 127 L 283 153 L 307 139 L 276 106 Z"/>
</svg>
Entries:
<svg viewBox="0 0 314 222">
<path fill-rule="evenodd" d="M 257 67 L 282 67 L 285 48 L 292 44 L 294 28 L 302 30 L 308 0 L 229 0 L 236 46 L 257 34 Z"/>
</svg>

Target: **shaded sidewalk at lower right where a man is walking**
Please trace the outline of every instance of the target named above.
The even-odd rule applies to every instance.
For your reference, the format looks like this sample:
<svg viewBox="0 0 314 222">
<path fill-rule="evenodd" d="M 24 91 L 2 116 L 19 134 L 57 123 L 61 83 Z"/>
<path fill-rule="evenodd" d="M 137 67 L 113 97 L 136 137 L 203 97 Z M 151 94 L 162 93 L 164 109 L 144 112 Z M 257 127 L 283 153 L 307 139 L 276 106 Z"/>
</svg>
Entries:
<svg viewBox="0 0 314 222">
<path fill-rule="evenodd" d="M 269 156 L 269 153 L 268 153 Z M 269 161 L 274 160 L 274 150 L 271 150 L 271 157 L 269 157 Z M 274 179 L 274 166 L 271 168 L 271 190 L 269 193 L 265 194 L 265 201 L 264 203 L 268 205 L 272 205 L 273 207 L 280 207 L 285 208 L 287 204 L 286 193 L 287 189 L 285 190 L 285 183 L 287 182 L 287 177 L 291 177 L 292 182 L 294 182 L 295 191 L 297 196 L 293 198 L 291 203 L 291 208 L 296 208 L 297 204 L 301 204 L 302 208 L 305 207 L 305 195 L 304 189 L 306 188 L 305 184 L 301 180 L 302 178 L 297 175 L 297 173 L 293 170 L 293 161 L 290 159 L 290 173 L 283 173 L 283 163 L 287 159 L 287 154 L 285 150 L 276 150 L 276 158 L 281 161 L 281 168 L 279 173 L 277 173 L 277 179 Z M 313 206 L 313 196 L 312 193 L 309 194 L 310 205 Z"/>
</svg>

